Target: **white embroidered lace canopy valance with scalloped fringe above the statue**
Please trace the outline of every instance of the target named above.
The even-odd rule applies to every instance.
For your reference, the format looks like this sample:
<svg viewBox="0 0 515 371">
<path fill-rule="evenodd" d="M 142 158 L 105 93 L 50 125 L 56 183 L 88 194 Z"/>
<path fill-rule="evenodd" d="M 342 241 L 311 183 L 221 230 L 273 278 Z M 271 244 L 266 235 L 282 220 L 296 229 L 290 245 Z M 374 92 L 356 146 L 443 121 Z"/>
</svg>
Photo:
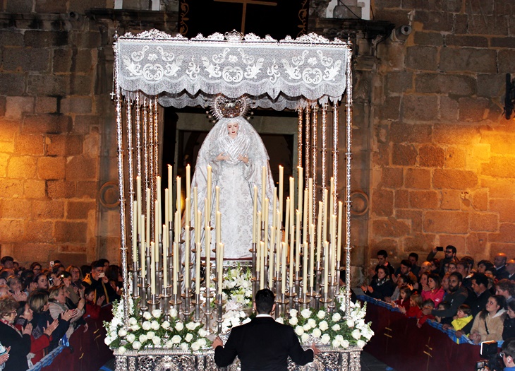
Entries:
<svg viewBox="0 0 515 371">
<path fill-rule="evenodd" d="M 341 99 L 348 42 L 310 34 L 277 41 L 239 33 L 187 39 L 157 30 L 127 33 L 115 44 L 123 95 L 159 95 L 164 106 L 205 107 L 214 94 L 250 95 L 255 107 L 296 108 Z"/>
</svg>

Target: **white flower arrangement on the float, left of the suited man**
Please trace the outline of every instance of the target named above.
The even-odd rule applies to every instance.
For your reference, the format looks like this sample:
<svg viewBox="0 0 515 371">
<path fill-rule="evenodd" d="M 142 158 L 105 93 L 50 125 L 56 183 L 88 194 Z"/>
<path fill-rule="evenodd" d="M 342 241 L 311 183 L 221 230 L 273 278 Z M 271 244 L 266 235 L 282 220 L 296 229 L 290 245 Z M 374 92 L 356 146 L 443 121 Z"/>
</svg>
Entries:
<svg viewBox="0 0 515 371">
<path fill-rule="evenodd" d="M 123 304 L 113 303 L 113 319 L 104 322 L 107 331 L 105 343 L 117 348 L 120 353 L 128 349 L 138 350 L 145 347 L 176 348 L 184 352 L 199 351 L 211 345 L 205 338 L 207 331 L 200 322 L 183 322 L 178 318 L 176 310 L 169 311 L 169 320 L 164 319 L 161 310 L 134 312 L 132 300 L 129 300 L 128 326 L 123 326 Z M 141 326 L 140 326 L 141 324 Z"/>
</svg>

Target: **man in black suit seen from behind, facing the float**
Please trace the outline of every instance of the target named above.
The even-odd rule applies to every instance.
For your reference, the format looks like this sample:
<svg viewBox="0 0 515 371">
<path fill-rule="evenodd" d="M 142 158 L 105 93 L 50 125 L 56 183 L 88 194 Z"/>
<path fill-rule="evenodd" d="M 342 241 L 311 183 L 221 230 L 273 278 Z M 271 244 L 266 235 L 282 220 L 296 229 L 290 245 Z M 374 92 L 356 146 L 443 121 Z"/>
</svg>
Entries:
<svg viewBox="0 0 515 371">
<path fill-rule="evenodd" d="M 248 324 L 231 329 L 225 347 L 222 339 L 214 339 L 214 362 L 227 367 L 237 355 L 242 371 L 286 371 L 288 356 L 297 365 L 313 362 L 314 355 L 320 351 L 314 344 L 304 351 L 293 328 L 275 322 L 270 316 L 274 308 L 274 293 L 267 288 L 257 291 L 254 303 L 257 316 Z"/>
</svg>

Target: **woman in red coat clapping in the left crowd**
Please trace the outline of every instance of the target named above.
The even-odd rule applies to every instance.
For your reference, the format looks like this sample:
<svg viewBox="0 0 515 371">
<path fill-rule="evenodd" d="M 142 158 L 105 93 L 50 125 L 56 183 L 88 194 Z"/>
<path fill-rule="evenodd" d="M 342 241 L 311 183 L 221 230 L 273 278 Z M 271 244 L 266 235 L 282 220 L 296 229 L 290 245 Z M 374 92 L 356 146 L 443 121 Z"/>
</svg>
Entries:
<svg viewBox="0 0 515 371">
<path fill-rule="evenodd" d="M 32 314 L 28 302 L 20 303 L 20 307 L 18 307 L 18 317 L 16 317 L 15 321 L 16 329 L 21 331 L 32 322 L 33 318 L 34 315 Z M 50 345 L 52 332 L 54 332 L 58 324 L 59 321 L 57 321 L 57 319 L 54 320 L 52 324 L 48 324 L 47 328 L 44 329 L 43 334 L 37 334 L 36 331 L 32 331 L 32 334 L 30 334 L 30 353 L 28 355 L 29 365 L 34 365 L 44 357 L 44 349 Z M 38 335 L 37 338 L 35 334 Z"/>
</svg>

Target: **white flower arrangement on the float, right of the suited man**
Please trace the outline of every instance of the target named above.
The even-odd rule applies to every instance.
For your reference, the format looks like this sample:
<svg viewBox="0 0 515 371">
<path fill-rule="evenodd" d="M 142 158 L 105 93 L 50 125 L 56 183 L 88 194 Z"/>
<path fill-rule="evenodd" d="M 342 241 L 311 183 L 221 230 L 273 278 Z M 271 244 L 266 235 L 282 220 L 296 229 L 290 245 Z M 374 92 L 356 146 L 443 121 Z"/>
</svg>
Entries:
<svg viewBox="0 0 515 371">
<path fill-rule="evenodd" d="M 295 334 L 304 344 L 315 342 L 333 348 L 363 348 L 374 335 L 370 329 L 371 323 L 365 323 L 366 303 L 361 307 L 359 302 L 351 302 L 346 313 L 344 295 L 337 295 L 335 300 L 337 306 L 333 314 L 323 309 L 316 312 L 310 309 L 301 312 L 290 310 L 279 322 L 293 326 Z"/>
</svg>

